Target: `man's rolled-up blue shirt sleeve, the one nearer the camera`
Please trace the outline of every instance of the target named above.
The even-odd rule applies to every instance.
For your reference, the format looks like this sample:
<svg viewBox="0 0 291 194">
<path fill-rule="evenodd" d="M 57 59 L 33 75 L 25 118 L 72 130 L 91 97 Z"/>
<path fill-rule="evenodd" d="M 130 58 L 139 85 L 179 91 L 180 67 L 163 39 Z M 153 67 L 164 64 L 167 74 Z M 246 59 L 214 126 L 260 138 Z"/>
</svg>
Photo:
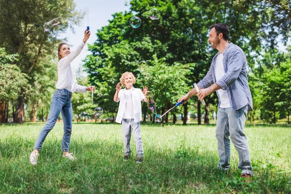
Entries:
<svg viewBox="0 0 291 194">
<path fill-rule="evenodd" d="M 226 90 L 239 77 L 244 64 L 244 58 L 244 54 L 239 49 L 235 49 L 229 53 L 227 72 L 220 80 L 216 81 L 216 84 L 223 90 Z"/>
</svg>

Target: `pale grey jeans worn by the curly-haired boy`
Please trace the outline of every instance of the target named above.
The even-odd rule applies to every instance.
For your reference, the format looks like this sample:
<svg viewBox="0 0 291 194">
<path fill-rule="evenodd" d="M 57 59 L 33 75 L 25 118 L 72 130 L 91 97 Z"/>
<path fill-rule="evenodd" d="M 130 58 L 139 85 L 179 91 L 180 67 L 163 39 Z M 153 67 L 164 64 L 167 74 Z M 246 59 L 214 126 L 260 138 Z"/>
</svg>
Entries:
<svg viewBox="0 0 291 194">
<path fill-rule="evenodd" d="M 144 157 L 144 148 L 143 142 L 141 138 L 141 123 L 134 122 L 134 119 L 123 118 L 122 119 L 122 136 L 124 143 L 124 155 L 130 155 L 130 138 L 131 138 L 131 130 L 133 133 L 133 139 L 136 147 L 136 156 Z"/>
</svg>

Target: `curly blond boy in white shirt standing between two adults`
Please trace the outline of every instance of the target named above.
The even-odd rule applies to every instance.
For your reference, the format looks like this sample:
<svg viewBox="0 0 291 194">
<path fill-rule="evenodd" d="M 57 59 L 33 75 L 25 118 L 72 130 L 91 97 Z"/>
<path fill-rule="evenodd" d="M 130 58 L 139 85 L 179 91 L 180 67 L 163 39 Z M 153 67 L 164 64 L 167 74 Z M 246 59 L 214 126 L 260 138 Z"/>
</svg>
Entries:
<svg viewBox="0 0 291 194">
<path fill-rule="evenodd" d="M 135 77 L 130 72 L 125 72 L 120 78 L 120 82 L 116 85 L 116 92 L 113 100 L 119 102 L 118 113 L 116 122 L 122 123 L 122 136 L 124 143 L 124 161 L 130 158 L 130 137 L 131 129 L 136 146 L 136 162 L 141 163 L 144 159 L 144 149 L 141 138 L 141 124 L 142 120 L 142 104 L 141 101 L 147 102 L 146 94 L 147 87 L 144 91 L 134 88 L 132 85 L 135 83 Z M 126 86 L 121 89 L 122 86 Z"/>
</svg>

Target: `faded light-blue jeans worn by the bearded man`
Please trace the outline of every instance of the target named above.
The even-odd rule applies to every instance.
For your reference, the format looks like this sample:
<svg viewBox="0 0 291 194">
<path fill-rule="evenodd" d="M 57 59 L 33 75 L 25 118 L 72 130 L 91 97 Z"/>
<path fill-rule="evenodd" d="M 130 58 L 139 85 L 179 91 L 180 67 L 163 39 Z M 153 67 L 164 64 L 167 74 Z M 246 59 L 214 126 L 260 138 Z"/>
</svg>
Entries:
<svg viewBox="0 0 291 194">
<path fill-rule="evenodd" d="M 231 108 L 219 108 L 216 122 L 216 139 L 218 141 L 219 164 L 218 168 L 228 170 L 230 168 L 230 140 L 239 154 L 239 166 L 242 173 L 253 175 L 249 147 L 243 133 L 247 116 L 247 105 L 237 111 Z"/>
</svg>

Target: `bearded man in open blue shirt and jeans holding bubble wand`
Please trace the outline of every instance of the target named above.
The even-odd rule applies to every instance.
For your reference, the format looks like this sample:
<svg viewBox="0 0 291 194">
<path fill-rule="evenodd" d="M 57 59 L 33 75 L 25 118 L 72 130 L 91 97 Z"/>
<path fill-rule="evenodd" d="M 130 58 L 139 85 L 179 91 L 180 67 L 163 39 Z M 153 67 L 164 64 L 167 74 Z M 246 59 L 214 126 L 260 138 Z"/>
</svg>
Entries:
<svg viewBox="0 0 291 194">
<path fill-rule="evenodd" d="M 198 100 L 216 91 L 219 103 L 216 123 L 216 139 L 218 141 L 218 169 L 227 171 L 230 168 L 230 140 L 239 154 L 239 166 L 242 178 L 251 178 L 254 174 L 248 143 L 243 133 L 247 111 L 253 109 L 252 96 L 247 79 L 246 57 L 240 47 L 228 43 L 229 28 L 226 24 L 210 26 L 208 42 L 219 52 L 213 57 L 210 70 L 197 84 L 199 92 L 194 88 L 182 100 L 189 100 L 197 94 Z M 213 84 L 212 84 L 213 83 Z M 212 84 L 212 85 L 211 85 Z"/>
</svg>

